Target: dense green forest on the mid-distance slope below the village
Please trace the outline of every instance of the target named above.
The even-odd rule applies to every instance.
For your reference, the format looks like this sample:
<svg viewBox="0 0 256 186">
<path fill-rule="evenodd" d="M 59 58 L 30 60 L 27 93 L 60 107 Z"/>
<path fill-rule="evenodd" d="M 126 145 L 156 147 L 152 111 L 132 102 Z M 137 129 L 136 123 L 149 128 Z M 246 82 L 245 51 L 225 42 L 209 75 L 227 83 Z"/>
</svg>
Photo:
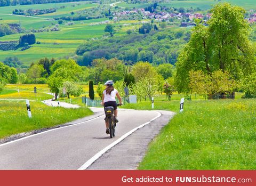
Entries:
<svg viewBox="0 0 256 186">
<path fill-rule="evenodd" d="M 129 34 L 88 41 L 80 45 L 76 54 L 77 63 L 91 66 L 97 58 L 117 58 L 132 64 L 148 61 L 154 65 L 174 64 L 179 50 L 187 43 L 190 31 L 152 30 L 149 34 Z"/>
</svg>

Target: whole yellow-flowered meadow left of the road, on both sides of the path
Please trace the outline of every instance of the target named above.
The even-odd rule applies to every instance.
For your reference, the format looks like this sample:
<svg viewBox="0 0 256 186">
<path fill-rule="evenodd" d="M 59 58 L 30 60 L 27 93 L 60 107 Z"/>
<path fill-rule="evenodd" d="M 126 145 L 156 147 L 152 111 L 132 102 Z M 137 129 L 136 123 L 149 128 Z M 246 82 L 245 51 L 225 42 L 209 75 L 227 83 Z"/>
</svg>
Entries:
<svg viewBox="0 0 256 186">
<path fill-rule="evenodd" d="M 37 93 L 34 93 L 34 87 Z M 85 94 L 88 94 L 89 86 L 83 86 Z M 96 90 L 97 86 L 94 87 Z M 18 92 L 19 89 L 19 92 Z M 46 84 L 9 84 L 0 93 L 0 139 L 22 132 L 29 132 L 41 128 L 53 127 L 93 114 L 82 104 L 82 98 L 71 96 L 73 104 L 81 106 L 77 109 L 62 107 L 49 107 L 41 101 L 51 99 Z M 25 99 L 30 100 L 30 108 L 33 117 L 27 116 Z M 67 101 L 60 99 L 60 101 Z M 13 122 L 17 121 L 17 122 Z"/>
</svg>

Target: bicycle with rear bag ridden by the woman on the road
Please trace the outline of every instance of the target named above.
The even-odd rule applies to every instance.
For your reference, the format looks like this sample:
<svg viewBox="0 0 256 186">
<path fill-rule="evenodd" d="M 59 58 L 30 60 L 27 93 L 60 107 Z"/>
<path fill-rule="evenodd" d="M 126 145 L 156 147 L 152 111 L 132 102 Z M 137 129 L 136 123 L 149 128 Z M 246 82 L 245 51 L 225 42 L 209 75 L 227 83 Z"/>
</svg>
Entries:
<svg viewBox="0 0 256 186">
<path fill-rule="evenodd" d="M 122 104 L 117 104 L 117 106 L 121 106 Z M 114 116 L 114 107 L 105 107 L 106 120 L 108 122 L 109 127 L 109 135 L 110 138 L 115 137 L 116 135 L 116 119 Z"/>
</svg>

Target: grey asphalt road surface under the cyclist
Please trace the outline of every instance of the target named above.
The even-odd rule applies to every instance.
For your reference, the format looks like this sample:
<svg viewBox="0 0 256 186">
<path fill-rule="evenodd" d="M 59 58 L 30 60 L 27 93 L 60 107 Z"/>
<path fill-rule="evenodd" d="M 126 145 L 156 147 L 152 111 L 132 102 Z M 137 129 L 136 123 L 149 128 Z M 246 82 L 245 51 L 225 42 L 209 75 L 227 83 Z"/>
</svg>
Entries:
<svg viewBox="0 0 256 186">
<path fill-rule="evenodd" d="M 156 111 L 119 110 L 113 139 L 105 133 L 104 117 L 91 116 L 94 119 L 87 122 L 1 144 L 0 169 L 78 169 L 122 135 L 158 115 Z M 161 117 L 158 121 L 161 122 Z M 143 128 L 139 130 L 143 132 Z"/>
</svg>

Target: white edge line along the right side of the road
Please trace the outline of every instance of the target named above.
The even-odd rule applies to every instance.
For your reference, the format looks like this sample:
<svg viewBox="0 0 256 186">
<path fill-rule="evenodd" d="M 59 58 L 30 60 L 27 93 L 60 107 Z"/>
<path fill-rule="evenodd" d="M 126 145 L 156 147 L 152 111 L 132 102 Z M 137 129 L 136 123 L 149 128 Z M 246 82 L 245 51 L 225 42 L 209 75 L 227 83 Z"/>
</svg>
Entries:
<svg viewBox="0 0 256 186">
<path fill-rule="evenodd" d="M 151 120 L 149 120 L 149 122 L 142 124 L 136 128 L 133 128 L 133 130 L 125 133 L 124 135 L 122 135 L 119 139 L 117 139 L 116 141 L 114 141 L 113 143 L 109 144 L 107 147 L 105 147 L 104 149 L 102 149 L 101 151 L 99 151 L 97 154 L 95 154 L 92 158 L 90 158 L 88 161 L 86 161 L 86 163 L 84 165 L 82 165 L 80 168 L 78 168 L 78 170 L 85 170 L 87 169 L 90 165 L 93 164 L 94 161 L 96 161 L 97 159 L 99 159 L 105 152 L 107 152 L 109 149 L 111 149 L 112 147 L 114 147 L 116 144 L 118 144 L 119 142 L 123 141 L 125 138 L 127 138 L 127 136 L 131 135 L 133 132 L 137 131 L 139 128 L 142 128 L 143 126 L 146 126 L 148 124 L 150 124 L 151 122 L 153 122 L 155 119 L 159 118 L 162 114 L 158 111 L 157 112 L 157 116 Z"/>
</svg>

